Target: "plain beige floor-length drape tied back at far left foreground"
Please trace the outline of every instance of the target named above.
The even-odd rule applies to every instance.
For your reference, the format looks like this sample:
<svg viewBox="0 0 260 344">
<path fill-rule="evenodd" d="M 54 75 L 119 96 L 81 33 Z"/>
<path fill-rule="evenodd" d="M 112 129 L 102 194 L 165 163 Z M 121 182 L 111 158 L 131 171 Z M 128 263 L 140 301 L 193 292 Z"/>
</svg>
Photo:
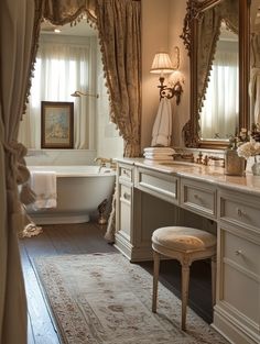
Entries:
<svg viewBox="0 0 260 344">
<path fill-rule="evenodd" d="M 26 343 L 26 300 L 18 232 L 22 214 L 18 184 L 29 173 L 17 143 L 37 32 L 37 0 L 0 1 L 0 343 Z M 36 22 L 34 22 L 36 21 Z M 33 34 L 34 33 L 34 34 Z"/>
</svg>

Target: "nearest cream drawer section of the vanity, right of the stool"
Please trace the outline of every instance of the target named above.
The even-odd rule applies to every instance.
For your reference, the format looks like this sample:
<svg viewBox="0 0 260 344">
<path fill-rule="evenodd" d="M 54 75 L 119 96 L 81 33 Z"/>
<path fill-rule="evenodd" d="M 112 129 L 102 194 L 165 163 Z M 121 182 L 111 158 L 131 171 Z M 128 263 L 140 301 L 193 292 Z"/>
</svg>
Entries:
<svg viewBox="0 0 260 344">
<path fill-rule="evenodd" d="M 260 343 L 259 196 L 219 188 L 214 326 L 236 344 Z"/>
</svg>

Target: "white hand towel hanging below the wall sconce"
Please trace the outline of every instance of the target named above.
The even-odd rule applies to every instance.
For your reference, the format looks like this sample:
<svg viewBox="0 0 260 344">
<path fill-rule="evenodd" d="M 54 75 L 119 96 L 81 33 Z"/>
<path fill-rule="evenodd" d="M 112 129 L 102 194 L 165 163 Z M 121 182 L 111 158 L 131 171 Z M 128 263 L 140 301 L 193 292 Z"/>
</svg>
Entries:
<svg viewBox="0 0 260 344">
<path fill-rule="evenodd" d="M 170 146 L 172 137 L 172 107 L 171 100 L 162 98 L 152 130 L 151 146 Z"/>
</svg>

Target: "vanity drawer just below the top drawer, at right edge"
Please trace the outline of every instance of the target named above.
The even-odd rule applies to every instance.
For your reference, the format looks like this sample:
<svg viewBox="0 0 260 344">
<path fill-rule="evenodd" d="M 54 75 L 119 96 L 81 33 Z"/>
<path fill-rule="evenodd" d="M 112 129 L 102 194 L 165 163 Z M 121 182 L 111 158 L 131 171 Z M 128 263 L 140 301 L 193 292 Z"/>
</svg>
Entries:
<svg viewBox="0 0 260 344">
<path fill-rule="evenodd" d="M 260 276 L 260 247 L 229 231 L 224 231 L 223 256 L 241 271 Z"/>
</svg>

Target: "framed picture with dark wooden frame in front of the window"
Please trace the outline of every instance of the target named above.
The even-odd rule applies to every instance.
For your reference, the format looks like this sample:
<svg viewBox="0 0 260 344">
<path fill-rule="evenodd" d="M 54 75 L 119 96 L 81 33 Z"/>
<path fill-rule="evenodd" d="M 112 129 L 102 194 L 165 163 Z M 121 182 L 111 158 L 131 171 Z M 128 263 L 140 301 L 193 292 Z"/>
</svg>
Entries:
<svg viewBox="0 0 260 344">
<path fill-rule="evenodd" d="M 41 147 L 73 148 L 74 103 L 42 101 Z"/>
</svg>

